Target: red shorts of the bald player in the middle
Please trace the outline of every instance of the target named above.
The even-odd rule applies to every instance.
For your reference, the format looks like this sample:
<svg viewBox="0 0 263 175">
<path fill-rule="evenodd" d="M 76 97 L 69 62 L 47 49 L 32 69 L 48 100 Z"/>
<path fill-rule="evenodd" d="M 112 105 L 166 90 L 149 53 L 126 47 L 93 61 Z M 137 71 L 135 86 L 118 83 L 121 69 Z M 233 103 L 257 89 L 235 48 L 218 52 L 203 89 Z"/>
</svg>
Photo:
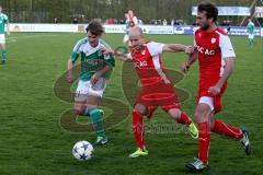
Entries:
<svg viewBox="0 0 263 175">
<path fill-rule="evenodd" d="M 174 86 L 170 84 L 153 85 L 150 89 L 144 89 L 137 96 L 136 104 L 142 104 L 147 107 L 148 118 L 151 118 L 158 107 L 161 107 L 165 113 L 172 108 L 181 107 Z"/>
</svg>

